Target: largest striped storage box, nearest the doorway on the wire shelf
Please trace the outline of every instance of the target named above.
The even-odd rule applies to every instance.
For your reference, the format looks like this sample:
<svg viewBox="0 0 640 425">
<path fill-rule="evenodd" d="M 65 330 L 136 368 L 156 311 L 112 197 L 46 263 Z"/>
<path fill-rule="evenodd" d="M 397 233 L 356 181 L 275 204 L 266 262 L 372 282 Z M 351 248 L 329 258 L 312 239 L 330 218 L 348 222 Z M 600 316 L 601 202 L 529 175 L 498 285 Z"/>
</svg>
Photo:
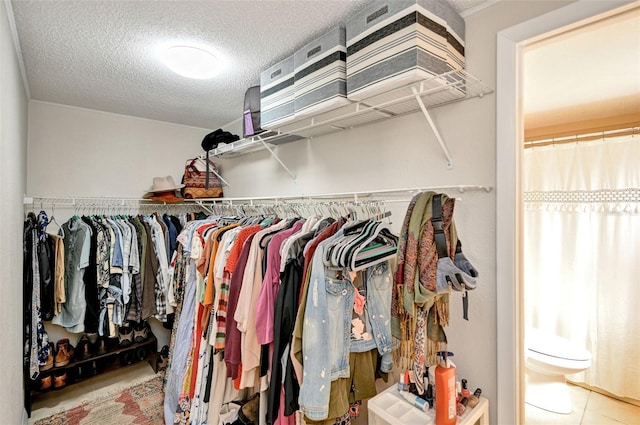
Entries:
<svg viewBox="0 0 640 425">
<path fill-rule="evenodd" d="M 462 17 L 445 1 L 371 3 L 347 22 L 347 96 L 364 100 L 463 69 L 464 29 Z"/>
</svg>

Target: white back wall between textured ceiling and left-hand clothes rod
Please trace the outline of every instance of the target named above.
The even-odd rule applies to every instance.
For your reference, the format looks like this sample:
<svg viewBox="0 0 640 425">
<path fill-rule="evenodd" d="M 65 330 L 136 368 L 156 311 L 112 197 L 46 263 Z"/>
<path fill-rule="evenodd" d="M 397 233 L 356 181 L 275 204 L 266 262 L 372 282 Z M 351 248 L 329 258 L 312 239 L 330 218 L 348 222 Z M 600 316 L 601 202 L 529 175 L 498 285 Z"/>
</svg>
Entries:
<svg viewBox="0 0 640 425">
<path fill-rule="evenodd" d="M 179 183 L 209 131 L 31 100 L 27 192 L 142 197 L 153 177 Z"/>
</svg>

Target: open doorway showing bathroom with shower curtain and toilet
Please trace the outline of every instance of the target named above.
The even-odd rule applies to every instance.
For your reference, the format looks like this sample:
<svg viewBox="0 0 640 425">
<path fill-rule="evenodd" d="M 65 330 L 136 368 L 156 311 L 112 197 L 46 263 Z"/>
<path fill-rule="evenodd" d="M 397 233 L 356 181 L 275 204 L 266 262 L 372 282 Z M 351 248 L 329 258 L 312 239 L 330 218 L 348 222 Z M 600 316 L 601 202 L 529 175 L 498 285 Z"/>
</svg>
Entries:
<svg viewBox="0 0 640 425">
<path fill-rule="evenodd" d="M 639 37 L 640 5 L 523 51 L 528 425 L 640 415 L 603 395 L 640 399 L 640 318 L 628 304 L 640 298 Z"/>
</svg>

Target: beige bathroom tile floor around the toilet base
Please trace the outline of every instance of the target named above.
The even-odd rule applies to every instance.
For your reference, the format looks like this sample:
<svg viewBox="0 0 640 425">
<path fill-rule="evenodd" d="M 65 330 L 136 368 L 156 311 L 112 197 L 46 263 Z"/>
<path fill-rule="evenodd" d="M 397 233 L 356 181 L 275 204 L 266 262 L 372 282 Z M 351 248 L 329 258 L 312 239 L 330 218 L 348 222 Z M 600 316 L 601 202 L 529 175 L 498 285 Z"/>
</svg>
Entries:
<svg viewBox="0 0 640 425">
<path fill-rule="evenodd" d="M 525 404 L 526 425 L 640 425 L 640 406 L 569 384 L 573 412 L 558 415 Z"/>
</svg>

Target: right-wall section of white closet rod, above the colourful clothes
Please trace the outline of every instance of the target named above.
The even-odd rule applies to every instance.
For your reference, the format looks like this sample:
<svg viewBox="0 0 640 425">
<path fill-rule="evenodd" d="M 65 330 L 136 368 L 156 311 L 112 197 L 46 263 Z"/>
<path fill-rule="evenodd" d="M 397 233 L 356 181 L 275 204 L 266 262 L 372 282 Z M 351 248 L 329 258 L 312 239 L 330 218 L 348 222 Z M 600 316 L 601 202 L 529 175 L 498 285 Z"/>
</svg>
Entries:
<svg viewBox="0 0 640 425">
<path fill-rule="evenodd" d="M 314 195 L 280 195 L 280 196 L 255 196 L 255 197 L 238 197 L 238 198 L 207 198 L 207 199 L 195 199 L 193 201 L 197 203 L 232 203 L 232 202 L 252 202 L 252 201 L 290 201 L 290 200 L 326 200 L 326 199 L 344 199 L 353 198 L 354 201 L 358 201 L 359 197 L 370 197 L 384 194 L 404 194 L 404 193 L 418 193 L 425 191 L 437 191 L 437 190 L 457 190 L 461 193 L 472 190 L 482 190 L 485 192 L 491 192 L 493 187 L 482 185 L 450 185 L 450 186 L 432 186 L 432 187 L 412 187 L 412 188 L 398 188 L 398 189 L 379 189 L 379 190 L 363 190 L 359 192 L 335 192 L 335 193 L 322 193 Z M 189 202 L 189 200 L 187 200 Z"/>
</svg>

